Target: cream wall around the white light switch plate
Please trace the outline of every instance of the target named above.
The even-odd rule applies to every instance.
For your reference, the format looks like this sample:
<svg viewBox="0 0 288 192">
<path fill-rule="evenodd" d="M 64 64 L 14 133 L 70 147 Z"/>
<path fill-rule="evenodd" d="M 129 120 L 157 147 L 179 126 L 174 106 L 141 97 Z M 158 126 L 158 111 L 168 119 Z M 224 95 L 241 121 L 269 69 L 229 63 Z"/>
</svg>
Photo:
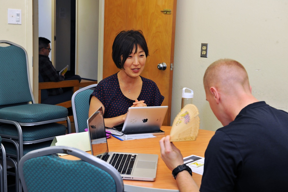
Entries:
<svg viewBox="0 0 288 192">
<path fill-rule="evenodd" d="M 32 33 L 32 0 L 0 0 L 0 39 L 12 41 L 26 49 L 29 58 L 30 79 L 32 86 L 32 56 L 33 56 L 33 33 Z M 21 9 L 22 24 L 7 24 L 7 10 Z"/>
</svg>

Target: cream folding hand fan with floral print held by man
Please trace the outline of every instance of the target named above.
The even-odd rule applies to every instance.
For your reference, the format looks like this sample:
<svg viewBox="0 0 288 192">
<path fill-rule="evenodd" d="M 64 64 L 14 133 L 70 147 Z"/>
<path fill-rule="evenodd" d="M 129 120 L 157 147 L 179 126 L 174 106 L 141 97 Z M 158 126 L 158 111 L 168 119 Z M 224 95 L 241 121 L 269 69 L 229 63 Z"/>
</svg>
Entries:
<svg viewBox="0 0 288 192">
<path fill-rule="evenodd" d="M 170 141 L 194 141 L 198 135 L 200 118 L 194 104 L 187 104 L 175 117 L 170 131 Z"/>
</svg>

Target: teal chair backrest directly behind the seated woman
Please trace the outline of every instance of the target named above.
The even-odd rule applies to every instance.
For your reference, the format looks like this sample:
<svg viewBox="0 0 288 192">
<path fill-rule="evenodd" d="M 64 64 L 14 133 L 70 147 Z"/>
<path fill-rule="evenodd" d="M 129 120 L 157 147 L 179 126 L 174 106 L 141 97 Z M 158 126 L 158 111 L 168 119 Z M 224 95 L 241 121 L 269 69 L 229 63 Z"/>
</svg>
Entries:
<svg viewBox="0 0 288 192">
<path fill-rule="evenodd" d="M 87 119 L 89 112 L 89 98 L 97 84 L 88 85 L 76 91 L 71 98 L 73 118 L 76 133 L 84 132 L 87 128 Z"/>
</svg>

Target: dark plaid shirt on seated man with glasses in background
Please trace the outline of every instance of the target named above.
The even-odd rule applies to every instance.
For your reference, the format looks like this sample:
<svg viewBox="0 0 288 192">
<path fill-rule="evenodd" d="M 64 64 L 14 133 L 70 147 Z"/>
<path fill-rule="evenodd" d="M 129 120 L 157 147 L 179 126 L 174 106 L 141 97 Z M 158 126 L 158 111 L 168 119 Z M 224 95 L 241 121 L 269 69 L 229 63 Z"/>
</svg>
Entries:
<svg viewBox="0 0 288 192">
<path fill-rule="evenodd" d="M 65 79 L 64 76 L 59 75 L 49 57 L 45 55 L 39 55 L 39 73 L 43 77 L 44 82 L 58 82 Z M 47 89 L 47 92 L 48 95 L 63 94 L 63 90 L 61 88 Z"/>
</svg>

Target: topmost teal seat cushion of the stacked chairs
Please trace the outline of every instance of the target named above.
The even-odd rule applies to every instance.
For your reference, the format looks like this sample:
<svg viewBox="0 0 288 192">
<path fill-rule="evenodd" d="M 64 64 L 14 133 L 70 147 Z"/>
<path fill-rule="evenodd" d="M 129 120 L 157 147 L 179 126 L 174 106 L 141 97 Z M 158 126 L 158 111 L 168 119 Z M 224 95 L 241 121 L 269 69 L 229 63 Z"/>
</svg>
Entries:
<svg viewBox="0 0 288 192">
<path fill-rule="evenodd" d="M 35 123 L 67 116 L 67 108 L 48 104 L 26 104 L 0 109 L 0 119 L 18 123 Z"/>
</svg>

